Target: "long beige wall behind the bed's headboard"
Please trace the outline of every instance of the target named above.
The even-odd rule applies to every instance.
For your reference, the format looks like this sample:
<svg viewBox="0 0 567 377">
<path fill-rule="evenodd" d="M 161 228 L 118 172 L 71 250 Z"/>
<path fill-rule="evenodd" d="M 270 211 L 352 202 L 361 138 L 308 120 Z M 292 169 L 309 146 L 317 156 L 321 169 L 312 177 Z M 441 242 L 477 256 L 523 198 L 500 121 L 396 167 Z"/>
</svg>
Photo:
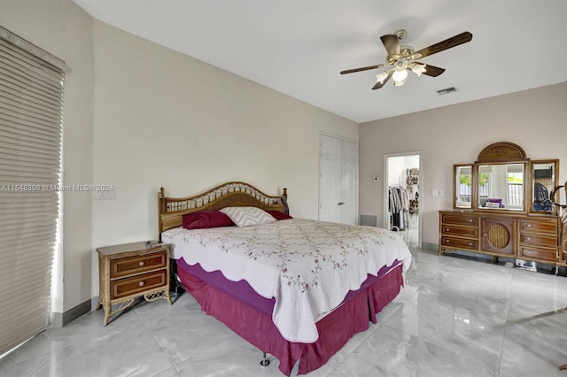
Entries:
<svg viewBox="0 0 567 377">
<path fill-rule="evenodd" d="M 115 199 L 93 204 L 93 247 L 155 239 L 160 186 L 287 187 L 291 214 L 317 218 L 320 132 L 356 142 L 356 123 L 105 23 L 94 30 L 93 176 Z"/>
</svg>

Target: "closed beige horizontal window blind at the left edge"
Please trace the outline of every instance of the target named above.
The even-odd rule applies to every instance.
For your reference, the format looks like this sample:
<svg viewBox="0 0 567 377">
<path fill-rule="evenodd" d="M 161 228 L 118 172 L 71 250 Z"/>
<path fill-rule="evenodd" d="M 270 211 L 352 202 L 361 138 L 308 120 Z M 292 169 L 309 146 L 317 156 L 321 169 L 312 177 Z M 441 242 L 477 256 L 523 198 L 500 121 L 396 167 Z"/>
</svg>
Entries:
<svg viewBox="0 0 567 377">
<path fill-rule="evenodd" d="M 64 66 L 0 27 L 0 354 L 48 325 Z"/>
</svg>

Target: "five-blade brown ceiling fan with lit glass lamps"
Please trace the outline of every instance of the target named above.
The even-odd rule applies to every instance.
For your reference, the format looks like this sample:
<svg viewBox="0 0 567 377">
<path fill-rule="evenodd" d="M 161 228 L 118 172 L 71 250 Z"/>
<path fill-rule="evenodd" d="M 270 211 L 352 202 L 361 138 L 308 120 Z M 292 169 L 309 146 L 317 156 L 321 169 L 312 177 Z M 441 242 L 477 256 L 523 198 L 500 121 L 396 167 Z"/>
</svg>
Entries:
<svg viewBox="0 0 567 377">
<path fill-rule="evenodd" d="M 439 74 L 445 72 L 445 68 L 439 68 L 434 65 L 426 65 L 416 61 L 417 59 L 425 58 L 429 55 L 436 54 L 472 40 L 472 34 L 469 32 L 463 32 L 459 35 L 454 35 L 445 41 L 431 44 L 429 47 L 415 51 L 411 46 L 402 46 L 400 44 L 400 41 L 405 36 L 406 30 L 400 29 L 395 32 L 395 34 L 382 35 L 380 37 L 380 40 L 384 44 L 384 48 L 388 52 L 386 63 L 347 69 L 346 71 L 341 71 L 340 74 L 368 71 L 370 69 L 377 69 L 392 65 L 392 68 L 376 75 L 377 82 L 376 85 L 372 87 L 372 90 L 382 88 L 391 78 L 393 79 L 393 84 L 399 87 L 406 82 L 406 79 L 408 78 L 408 71 L 416 73 L 417 76 L 425 74 L 431 77 L 437 77 Z"/>
</svg>

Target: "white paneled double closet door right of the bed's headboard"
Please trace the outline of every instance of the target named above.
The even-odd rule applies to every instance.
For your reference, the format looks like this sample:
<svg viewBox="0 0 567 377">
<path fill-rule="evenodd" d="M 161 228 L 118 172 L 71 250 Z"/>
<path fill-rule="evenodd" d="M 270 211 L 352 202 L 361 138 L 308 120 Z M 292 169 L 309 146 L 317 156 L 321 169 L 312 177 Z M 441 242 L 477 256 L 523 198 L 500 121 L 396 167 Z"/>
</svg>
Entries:
<svg viewBox="0 0 567 377">
<path fill-rule="evenodd" d="M 321 135 L 319 219 L 358 224 L 358 146 Z"/>
</svg>

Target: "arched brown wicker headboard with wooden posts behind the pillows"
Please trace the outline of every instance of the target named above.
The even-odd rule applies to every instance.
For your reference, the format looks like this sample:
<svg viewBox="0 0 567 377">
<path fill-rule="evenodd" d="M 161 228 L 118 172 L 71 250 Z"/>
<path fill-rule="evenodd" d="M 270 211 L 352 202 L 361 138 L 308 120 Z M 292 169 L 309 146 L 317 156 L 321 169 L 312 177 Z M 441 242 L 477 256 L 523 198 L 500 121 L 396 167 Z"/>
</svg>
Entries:
<svg viewBox="0 0 567 377">
<path fill-rule="evenodd" d="M 164 188 L 158 193 L 158 231 L 181 227 L 183 215 L 190 212 L 220 210 L 224 207 L 259 207 L 289 213 L 287 188 L 282 196 L 268 196 L 245 182 L 228 182 L 190 197 L 167 197 Z"/>
</svg>

